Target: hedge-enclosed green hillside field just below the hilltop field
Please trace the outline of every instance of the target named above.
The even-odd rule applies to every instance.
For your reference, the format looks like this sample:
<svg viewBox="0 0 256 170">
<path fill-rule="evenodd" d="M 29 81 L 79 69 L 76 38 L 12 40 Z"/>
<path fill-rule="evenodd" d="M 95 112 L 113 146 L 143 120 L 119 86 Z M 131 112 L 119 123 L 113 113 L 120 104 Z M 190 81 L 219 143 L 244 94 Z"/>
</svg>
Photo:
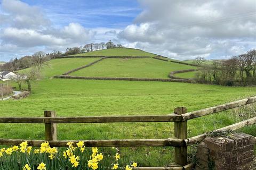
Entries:
<svg viewBox="0 0 256 170">
<path fill-rule="evenodd" d="M 85 77 L 168 78 L 171 71 L 196 67 L 153 58 L 108 58 L 70 75 Z"/>
</svg>

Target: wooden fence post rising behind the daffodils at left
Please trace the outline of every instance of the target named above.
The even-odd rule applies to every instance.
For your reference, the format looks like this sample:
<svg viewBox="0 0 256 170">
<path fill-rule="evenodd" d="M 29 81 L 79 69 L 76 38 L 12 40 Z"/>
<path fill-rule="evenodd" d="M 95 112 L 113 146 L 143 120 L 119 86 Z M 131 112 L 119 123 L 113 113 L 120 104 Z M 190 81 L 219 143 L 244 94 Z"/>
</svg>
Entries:
<svg viewBox="0 0 256 170">
<path fill-rule="evenodd" d="M 44 117 L 55 117 L 55 111 L 44 111 Z M 57 126 L 56 123 L 45 123 L 45 140 L 57 140 Z"/>
</svg>

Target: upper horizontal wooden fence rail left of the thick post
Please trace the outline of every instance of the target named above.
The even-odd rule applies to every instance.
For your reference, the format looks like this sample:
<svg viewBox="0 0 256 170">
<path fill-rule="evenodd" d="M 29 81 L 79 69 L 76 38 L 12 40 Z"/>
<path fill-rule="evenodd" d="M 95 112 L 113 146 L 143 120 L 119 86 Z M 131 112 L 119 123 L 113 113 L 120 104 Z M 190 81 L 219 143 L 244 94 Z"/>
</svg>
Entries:
<svg viewBox="0 0 256 170">
<path fill-rule="evenodd" d="M 114 123 L 114 122 L 174 122 L 181 115 L 86 116 L 86 117 L 0 117 L 0 123 Z"/>
</svg>

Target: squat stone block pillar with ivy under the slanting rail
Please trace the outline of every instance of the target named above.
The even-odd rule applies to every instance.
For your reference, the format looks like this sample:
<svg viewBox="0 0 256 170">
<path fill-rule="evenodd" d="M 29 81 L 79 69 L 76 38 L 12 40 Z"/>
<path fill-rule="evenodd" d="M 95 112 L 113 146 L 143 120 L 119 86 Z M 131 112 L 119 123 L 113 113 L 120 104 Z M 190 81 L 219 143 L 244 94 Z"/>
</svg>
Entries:
<svg viewBox="0 0 256 170">
<path fill-rule="evenodd" d="M 235 133 L 228 137 L 207 137 L 197 148 L 196 169 L 251 169 L 254 137 Z"/>
</svg>

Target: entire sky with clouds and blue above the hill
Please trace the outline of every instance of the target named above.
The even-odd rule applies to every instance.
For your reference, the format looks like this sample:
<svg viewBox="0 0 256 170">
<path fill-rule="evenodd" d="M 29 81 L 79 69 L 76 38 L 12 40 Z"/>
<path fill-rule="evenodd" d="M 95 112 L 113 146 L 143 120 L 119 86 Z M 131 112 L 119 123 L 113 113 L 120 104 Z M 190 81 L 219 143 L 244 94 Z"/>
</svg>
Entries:
<svg viewBox="0 0 256 170">
<path fill-rule="evenodd" d="M 87 43 L 177 60 L 256 48 L 255 0 L 0 0 L 0 61 Z"/>
</svg>

